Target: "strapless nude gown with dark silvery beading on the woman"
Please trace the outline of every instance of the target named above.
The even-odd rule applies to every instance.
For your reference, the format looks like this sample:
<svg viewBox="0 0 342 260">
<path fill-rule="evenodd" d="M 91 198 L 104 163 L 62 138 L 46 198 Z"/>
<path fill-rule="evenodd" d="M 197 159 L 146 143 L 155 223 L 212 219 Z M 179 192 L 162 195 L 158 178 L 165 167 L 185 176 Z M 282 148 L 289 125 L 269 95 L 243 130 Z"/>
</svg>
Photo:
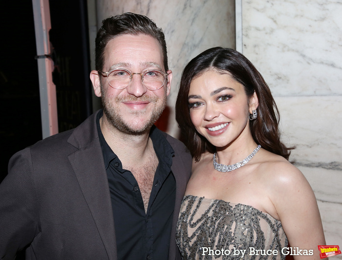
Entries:
<svg viewBox="0 0 342 260">
<path fill-rule="evenodd" d="M 184 260 L 284 260 L 281 250 L 288 244 L 280 221 L 271 215 L 193 195 L 183 198 L 176 240 Z"/>
</svg>

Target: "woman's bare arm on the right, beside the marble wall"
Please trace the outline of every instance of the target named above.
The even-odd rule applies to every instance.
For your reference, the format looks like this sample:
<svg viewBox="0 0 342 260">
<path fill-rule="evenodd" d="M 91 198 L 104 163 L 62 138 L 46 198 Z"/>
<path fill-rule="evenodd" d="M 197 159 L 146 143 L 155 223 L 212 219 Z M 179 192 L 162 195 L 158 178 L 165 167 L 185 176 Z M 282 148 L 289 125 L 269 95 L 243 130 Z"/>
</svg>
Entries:
<svg viewBox="0 0 342 260">
<path fill-rule="evenodd" d="M 292 248 L 298 255 L 295 260 L 319 260 L 318 245 L 325 245 L 325 238 L 316 197 L 304 175 L 290 163 L 279 163 L 274 174 L 274 192 L 271 200 Z M 281 169 L 279 171 L 279 169 Z M 299 251 L 297 250 L 303 250 Z M 313 255 L 300 255 L 312 252 Z"/>
</svg>

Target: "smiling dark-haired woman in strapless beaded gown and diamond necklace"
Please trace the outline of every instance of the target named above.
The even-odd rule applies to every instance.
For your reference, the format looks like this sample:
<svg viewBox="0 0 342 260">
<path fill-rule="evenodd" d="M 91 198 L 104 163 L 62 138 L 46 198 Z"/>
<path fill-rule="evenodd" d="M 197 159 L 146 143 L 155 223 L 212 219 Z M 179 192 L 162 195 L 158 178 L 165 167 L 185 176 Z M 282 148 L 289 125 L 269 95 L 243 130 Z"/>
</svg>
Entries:
<svg viewBox="0 0 342 260">
<path fill-rule="evenodd" d="M 320 259 L 316 198 L 288 162 L 278 118 L 237 51 L 211 48 L 185 67 L 176 120 L 193 164 L 177 225 L 183 259 Z"/>
</svg>

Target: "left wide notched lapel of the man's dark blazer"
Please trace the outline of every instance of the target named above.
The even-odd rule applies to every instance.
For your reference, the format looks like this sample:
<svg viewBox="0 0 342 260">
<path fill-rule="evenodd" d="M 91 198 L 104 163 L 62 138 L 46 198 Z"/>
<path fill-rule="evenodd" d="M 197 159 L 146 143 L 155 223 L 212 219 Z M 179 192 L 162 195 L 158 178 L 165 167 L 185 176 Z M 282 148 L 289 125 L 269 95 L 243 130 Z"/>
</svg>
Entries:
<svg viewBox="0 0 342 260">
<path fill-rule="evenodd" d="M 68 158 L 106 248 L 108 259 L 116 260 L 117 248 L 108 179 L 94 116 L 96 119 L 96 114 L 91 116 L 70 136 L 68 141 L 78 146 L 79 150 Z M 89 138 L 86 138 L 87 133 L 90 133 Z M 81 138 L 77 138 L 79 134 Z"/>
</svg>

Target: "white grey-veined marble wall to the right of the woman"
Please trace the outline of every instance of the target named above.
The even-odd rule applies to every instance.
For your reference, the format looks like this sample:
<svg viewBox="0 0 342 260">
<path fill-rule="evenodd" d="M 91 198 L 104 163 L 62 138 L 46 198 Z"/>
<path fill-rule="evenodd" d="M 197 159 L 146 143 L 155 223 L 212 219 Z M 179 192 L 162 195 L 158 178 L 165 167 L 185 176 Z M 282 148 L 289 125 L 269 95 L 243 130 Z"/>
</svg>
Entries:
<svg viewBox="0 0 342 260">
<path fill-rule="evenodd" d="M 290 161 L 317 197 L 326 242 L 342 247 L 341 14 L 341 0 L 236 0 L 236 48 L 269 84 L 282 139 L 297 146 Z"/>
</svg>

